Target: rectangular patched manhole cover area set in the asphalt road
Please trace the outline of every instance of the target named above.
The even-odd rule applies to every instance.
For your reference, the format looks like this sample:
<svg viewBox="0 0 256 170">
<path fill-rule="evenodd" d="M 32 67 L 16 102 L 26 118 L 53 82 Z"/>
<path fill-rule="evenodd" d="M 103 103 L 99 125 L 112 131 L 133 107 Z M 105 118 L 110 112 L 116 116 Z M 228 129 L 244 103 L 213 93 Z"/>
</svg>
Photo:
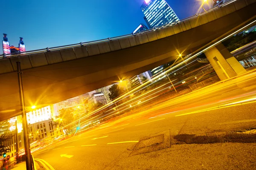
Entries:
<svg viewBox="0 0 256 170">
<path fill-rule="evenodd" d="M 170 130 L 141 138 L 130 156 L 162 150 L 168 147 L 171 147 Z"/>
</svg>

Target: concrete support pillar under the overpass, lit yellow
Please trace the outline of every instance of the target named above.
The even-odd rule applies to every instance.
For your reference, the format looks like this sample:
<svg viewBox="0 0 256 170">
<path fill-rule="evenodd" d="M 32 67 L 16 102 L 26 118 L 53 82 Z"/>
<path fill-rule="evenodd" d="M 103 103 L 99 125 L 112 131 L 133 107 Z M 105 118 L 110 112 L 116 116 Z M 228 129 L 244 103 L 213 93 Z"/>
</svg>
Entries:
<svg viewBox="0 0 256 170">
<path fill-rule="evenodd" d="M 204 52 L 221 80 L 243 74 L 246 70 L 221 43 Z"/>
</svg>

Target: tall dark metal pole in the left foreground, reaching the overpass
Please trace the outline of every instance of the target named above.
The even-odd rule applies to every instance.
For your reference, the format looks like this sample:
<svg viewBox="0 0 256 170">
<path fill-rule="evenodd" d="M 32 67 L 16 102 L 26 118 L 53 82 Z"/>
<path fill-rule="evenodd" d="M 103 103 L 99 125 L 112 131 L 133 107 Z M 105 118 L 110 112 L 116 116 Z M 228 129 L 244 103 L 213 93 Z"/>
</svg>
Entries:
<svg viewBox="0 0 256 170">
<path fill-rule="evenodd" d="M 26 109 L 25 109 L 20 62 L 16 62 L 16 64 L 17 64 L 19 92 L 20 92 L 20 111 L 22 112 L 22 126 L 23 126 L 23 136 L 24 136 L 25 156 L 26 156 L 26 170 L 32 170 L 32 160 L 31 160 L 32 156 L 31 156 L 30 145 L 29 145 L 29 130 L 28 130 L 28 123 L 26 119 Z"/>
</svg>

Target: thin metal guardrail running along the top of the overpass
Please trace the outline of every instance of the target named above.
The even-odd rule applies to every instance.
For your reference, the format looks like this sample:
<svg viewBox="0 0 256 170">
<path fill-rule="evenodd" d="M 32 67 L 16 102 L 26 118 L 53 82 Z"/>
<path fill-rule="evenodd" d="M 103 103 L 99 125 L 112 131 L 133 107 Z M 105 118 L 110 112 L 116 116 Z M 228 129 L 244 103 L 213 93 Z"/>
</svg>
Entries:
<svg viewBox="0 0 256 170">
<path fill-rule="evenodd" d="M 74 47 L 79 47 L 79 46 L 83 46 L 83 45 L 92 45 L 92 44 L 96 44 L 96 43 L 100 43 L 100 42 L 109 42 L 111 40 L 119 40 L 119 39 L 126 38 L 126 37 L 132 37 L 132 36 L 137 35 L 137 34 L 143 34 L 143 33 L 149 32 L 149 31 L 156 31 L 158 29 L 166 28 L 166 27 L 173 26 L 175 24 L 178 24 L 178 23 L 181 23 L 181 22 L 184 22 L 184 21 L 187 21 L 187 20 L 191 20 L 193 18 L 196 18 L 196 17 L 202 16 L 204 14 L 207 14 L 210 11 L 214 11 L 217 8 L 221 8 L 222 6 L 226 6 L 226 5 L 228 5 L 230 3 L 233 3 L 235 1 L 237 1 L 237 0 L 228 1 L 227 3 L 224 3 L 224 4 L 221 4 L 221 5 L 216 6 L 214 8 L 208 9 L 206 11 L 203 11 L 203 12 L 199 13 L 199 14 L 195 14 L 195 15 L 192 15 L 190 17 L 184 18 L 183 20 L 179 20 L 179 21 L 176 21 L 174 23 L 169 23 L 169 24 L 166 24 L 166 25 L 163 25 L 163 26 L 150 28 L 148 30 L 140 31 L 140 32 L 135 33 L 135 34 L 126 34 L 126 35 L 106 38 L 106 39 L 102 39 L 102 40 L 95 40 L 95 41 L 89 41 L 89 42 L 80 42 L 80 43 L 76 43 L 76 44 L 62 45 L 62 46 L 50 47 L 50 48 L 47 47 L 47 48 L 41 48 L 41 49 L 31 50 L 31 51 L 24 51 L 24 52 L 19 52 L 19 53 L 0 54 L 0 58 L 3 58 L 4 55 L 6 55 L 6 57 L 15 57 L 15 56 L 21 56 L 21 55 L 28 55 L 28 54 L 37 54 L 37 53 L 41 53 L 41 52 L 55 51 L 55 50 L 61 50 L 61 49 L 66 49 L 66 48 L 74 48 Z"/>
</svg>

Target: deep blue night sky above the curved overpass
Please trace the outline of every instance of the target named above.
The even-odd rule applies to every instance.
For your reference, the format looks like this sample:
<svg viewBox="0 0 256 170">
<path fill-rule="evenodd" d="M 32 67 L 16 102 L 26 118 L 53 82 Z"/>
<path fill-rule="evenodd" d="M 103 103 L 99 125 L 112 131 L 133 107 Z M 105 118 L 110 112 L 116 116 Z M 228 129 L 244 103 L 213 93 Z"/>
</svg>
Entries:
<svg viewBox="0 0 256 170">
<path fill-rule="evenodd" d="M 201 4 L 201 0 L 166 2 L 179 19 L 195 14 Z M 143 0 L 1 0 L 0 33 L 8 34 L 14 46 L 23 37 L 27 51 L 115 37 L 129 34 L 145 23 L 142 3 Z"/>
</svg>

